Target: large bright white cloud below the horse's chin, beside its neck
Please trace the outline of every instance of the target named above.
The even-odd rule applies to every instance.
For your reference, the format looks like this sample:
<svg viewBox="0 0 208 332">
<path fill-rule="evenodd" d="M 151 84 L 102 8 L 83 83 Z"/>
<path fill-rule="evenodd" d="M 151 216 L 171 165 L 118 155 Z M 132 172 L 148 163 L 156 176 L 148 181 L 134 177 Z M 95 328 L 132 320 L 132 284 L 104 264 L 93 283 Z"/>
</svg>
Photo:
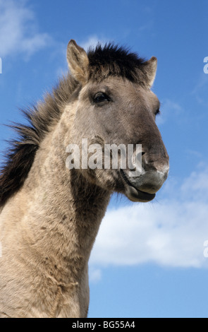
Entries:
<svg viewBox="0 0 208 332">
<path fill-rule="evenodd" d="M 161 203 L 134 204 L 108 211 L 92 251 L 91 266 L 157 263 L 208 267 L 208 169 L 170 186 Z"/>
</svg>

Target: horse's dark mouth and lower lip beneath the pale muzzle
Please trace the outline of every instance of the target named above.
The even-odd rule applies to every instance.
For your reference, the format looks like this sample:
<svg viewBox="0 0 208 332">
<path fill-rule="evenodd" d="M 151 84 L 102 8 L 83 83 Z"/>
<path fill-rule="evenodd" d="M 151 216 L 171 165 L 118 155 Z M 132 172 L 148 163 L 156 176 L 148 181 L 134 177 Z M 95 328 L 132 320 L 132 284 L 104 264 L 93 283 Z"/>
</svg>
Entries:
<svg viewBox="0 0 208 332">
<path fill-rule="evenodd" d="M 154 199 L 155 194 L 149 194 L 145 191 L 141 191 L 140 189 L 135 188 L 135 186 L 130 183 L 125 172 L 122 169 L 120 170 L 120 172 L 125 186 L 125 194 L 130 199 L 130 201 L 146 203 Z"/>
</svg>

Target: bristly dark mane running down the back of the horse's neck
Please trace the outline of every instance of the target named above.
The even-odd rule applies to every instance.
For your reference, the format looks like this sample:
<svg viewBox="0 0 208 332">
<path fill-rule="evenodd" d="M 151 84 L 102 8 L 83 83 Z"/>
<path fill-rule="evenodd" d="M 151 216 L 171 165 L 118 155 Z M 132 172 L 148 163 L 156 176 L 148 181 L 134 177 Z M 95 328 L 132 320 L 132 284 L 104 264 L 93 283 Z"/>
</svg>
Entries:
<svg viewBox="0 0 208 332">
<path fill-rule="evenodd" d="M 31 109 L 22 110 L 28 124 L 10 126 L 18 134 L 17 140 L 9 142 L 4 165 L 0 169 L 0 208 L 8 198 L 24 184 L 35 153 L 51 126 L 61 117 L 61 106 L 65 105 L 78 83 L 68 75 L 63 78 L 51 94 L 47 93 L 43 102 Z"/>
</svg>

